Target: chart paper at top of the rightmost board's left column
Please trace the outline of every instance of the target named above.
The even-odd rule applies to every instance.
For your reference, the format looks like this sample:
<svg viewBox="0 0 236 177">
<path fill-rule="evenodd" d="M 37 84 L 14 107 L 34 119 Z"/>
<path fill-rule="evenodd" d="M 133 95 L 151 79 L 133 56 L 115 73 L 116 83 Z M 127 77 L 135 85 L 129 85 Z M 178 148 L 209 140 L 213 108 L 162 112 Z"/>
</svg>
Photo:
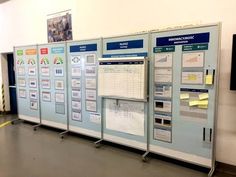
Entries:
<svg viewBox="0 0 236 177">
<path fill-rule="evenodd" d="M 155 54 L 155 67 L 172 67 L 172 53 Z"/>
</svg>

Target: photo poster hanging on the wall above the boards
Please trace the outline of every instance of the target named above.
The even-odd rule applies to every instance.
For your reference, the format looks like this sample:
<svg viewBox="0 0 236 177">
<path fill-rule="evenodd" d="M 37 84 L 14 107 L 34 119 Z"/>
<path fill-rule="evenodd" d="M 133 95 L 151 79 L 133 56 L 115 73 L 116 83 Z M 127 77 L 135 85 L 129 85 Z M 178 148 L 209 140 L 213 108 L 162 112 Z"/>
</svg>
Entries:
<svg viewBox="0 0 236 177">
<path fill-rule="evenodd" d="M 48 43 L 73 40 L 71 10 L 47 15 Z"/>
</svg>

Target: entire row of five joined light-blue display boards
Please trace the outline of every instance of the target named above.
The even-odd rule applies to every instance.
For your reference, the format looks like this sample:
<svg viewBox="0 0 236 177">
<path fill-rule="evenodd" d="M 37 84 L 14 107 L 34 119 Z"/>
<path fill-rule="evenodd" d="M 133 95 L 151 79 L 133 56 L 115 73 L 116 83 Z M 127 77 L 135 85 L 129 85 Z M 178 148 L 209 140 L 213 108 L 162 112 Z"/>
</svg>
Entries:
<svg viewBox="0 0 236 177">
<path fill-rule="evenodd" d="M 219 33 L 214 24 L 15 47 L 19 118 L 212 168 Z"/>
</svg>

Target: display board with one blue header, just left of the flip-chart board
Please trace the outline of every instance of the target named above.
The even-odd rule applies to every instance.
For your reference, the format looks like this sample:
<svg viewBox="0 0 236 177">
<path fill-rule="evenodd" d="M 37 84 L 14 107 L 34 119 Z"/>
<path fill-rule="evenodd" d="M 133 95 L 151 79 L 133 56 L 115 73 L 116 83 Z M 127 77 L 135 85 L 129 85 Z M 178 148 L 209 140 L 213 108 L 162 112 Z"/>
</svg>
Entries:
<svg viewBox="0 0 236 177">
<path fill-rule="evenodd" d="M 101 39 L 67 43 L 69 131 L 101 138 L 101 98 L 97 94 L 97 59 Z"/>
</svg>

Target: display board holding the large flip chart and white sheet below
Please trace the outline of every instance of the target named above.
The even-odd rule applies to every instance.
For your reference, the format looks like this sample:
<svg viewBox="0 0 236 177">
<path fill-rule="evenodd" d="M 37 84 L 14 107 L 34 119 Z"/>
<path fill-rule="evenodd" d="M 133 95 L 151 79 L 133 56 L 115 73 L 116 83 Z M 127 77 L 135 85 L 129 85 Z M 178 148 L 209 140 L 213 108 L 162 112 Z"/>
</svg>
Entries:
<svg viewBox="0 0 236 177">
<path fill-rule="evenodd" d="M 103 97 L 103 140 L 147 149 L 148 34 L 103 39 L 98 95 Z"/>
</svg>

